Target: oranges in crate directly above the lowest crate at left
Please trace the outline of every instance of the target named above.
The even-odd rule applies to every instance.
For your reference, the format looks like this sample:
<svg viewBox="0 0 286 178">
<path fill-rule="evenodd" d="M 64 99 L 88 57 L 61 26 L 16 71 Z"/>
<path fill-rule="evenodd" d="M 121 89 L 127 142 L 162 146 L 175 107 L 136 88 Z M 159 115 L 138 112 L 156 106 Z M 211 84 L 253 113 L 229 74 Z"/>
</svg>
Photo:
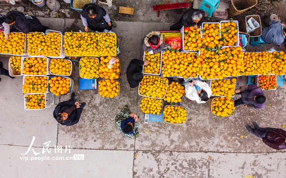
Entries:
<svg viewBox="0 0 286 178">
<path fill-rule="evenodd" d="M 25 76 L 23 93 L 47 93 L 48 77 Z"/>
</svg>

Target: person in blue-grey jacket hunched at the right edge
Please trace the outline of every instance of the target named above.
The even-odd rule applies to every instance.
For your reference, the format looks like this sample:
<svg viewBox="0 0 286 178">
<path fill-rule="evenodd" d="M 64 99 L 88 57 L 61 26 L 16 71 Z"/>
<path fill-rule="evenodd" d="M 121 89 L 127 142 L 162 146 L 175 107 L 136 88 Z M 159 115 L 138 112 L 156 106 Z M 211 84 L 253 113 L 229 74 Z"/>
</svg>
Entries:
<svg viewBox="0 0 286 178">
<path fill-rule="evenodd" d="M 285 42 L 285 25 L 280 22 L 281 20 L 272 20 L 269 22 L 269 26 L 262 29 L 261 37 L 265 43 L 281 45 Z"/>
</svg>

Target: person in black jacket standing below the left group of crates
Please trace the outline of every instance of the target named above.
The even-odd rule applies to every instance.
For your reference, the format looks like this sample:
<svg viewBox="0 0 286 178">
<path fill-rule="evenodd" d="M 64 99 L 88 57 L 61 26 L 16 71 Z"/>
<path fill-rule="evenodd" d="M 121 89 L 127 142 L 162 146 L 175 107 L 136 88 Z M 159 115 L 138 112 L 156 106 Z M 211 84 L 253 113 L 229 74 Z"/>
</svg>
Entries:
<svg viewBox="0 0 286 178">
<path fill-rule="evenodd" d="M 75 93 L 71 94 L 71 98 L 57 104 L 53 111 L 53 117 L 58 123 L 65 126 L 72 126 L 79 122 L 83 108 L 86 103 L 76 101 Z"/>
</svg>

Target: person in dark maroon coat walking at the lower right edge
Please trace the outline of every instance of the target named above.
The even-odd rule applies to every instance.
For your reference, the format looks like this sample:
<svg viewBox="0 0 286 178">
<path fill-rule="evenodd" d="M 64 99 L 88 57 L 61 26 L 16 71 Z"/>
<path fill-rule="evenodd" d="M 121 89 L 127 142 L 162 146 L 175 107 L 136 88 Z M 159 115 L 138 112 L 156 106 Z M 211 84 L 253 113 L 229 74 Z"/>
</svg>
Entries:
<svg viewBox="0 0 286 178">
<path fill-rule="evenodd" d="M 246 125 L 246 129 L 255 136 L 262 138 L 269 147 L 277 150 L 286 149 L 286 131 L 277 128 L 260 128 L 256 122 L 254 128 Z"/>
</svg>

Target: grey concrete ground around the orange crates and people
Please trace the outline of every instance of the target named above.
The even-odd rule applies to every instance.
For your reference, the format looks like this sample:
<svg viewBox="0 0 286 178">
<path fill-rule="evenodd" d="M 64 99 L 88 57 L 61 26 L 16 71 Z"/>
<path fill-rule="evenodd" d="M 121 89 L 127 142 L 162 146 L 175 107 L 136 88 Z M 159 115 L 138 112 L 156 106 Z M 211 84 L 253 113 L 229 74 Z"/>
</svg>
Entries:
<svg viewBox="0 0 286 178">
<path fill-rule="evenodd" d="M 61 32 L 83 30 L 76 19 L 40 21 Z M 52 117 L 54 106 L 24 110 L 22 77 L 12 80 L 0 76 L 0 177 L 244 178 L 251 174 L 255 178 L 285 178 L 285 151 L 271 149 L 245 129 L 254 121 L 261 127 L 282 128 L 286 123 L 285 86 L 265 91 L 269 104 L 261 110 L 237 107 L 233 116 L 218 118 L 206 104 L 184 97 L 181 105 L 187 109 L 185 124 L 143 124 L 141 96 L 138 88 L 129 88 L 126 68 L 133 58 L 143 59 L 141 41 L 149 31 L 167 30 L 172 23 L 116 23 L 113 31 L 122 42 L 120 94 L 111 99 L 102 98 L 98 90 L 79 90 L 79 70 L 75 67 L 73 91 L 87 105 L 74 126 L 57 124 Z M 7 68 L 8 58 L 0 57 L 0 61 Z M 238 87 L 245 85 L 246 79 L 238 77 Z M 61 96 L 60 101 L 69 97 Z M 135 139 L 122 136 L 114 124 L 116 114 L 126 104 L 140 116 L 140 134 Z M 31 149 L 25 154 L 33 135 L 35 152 Z M 56 152 L 58 146 L 62 146 L 62 153 Z M 82 159 L 83 155 L 84 160 L 68 160 Z M 35 157 L 43 161 L 32 160 Z"/>
</svg>

